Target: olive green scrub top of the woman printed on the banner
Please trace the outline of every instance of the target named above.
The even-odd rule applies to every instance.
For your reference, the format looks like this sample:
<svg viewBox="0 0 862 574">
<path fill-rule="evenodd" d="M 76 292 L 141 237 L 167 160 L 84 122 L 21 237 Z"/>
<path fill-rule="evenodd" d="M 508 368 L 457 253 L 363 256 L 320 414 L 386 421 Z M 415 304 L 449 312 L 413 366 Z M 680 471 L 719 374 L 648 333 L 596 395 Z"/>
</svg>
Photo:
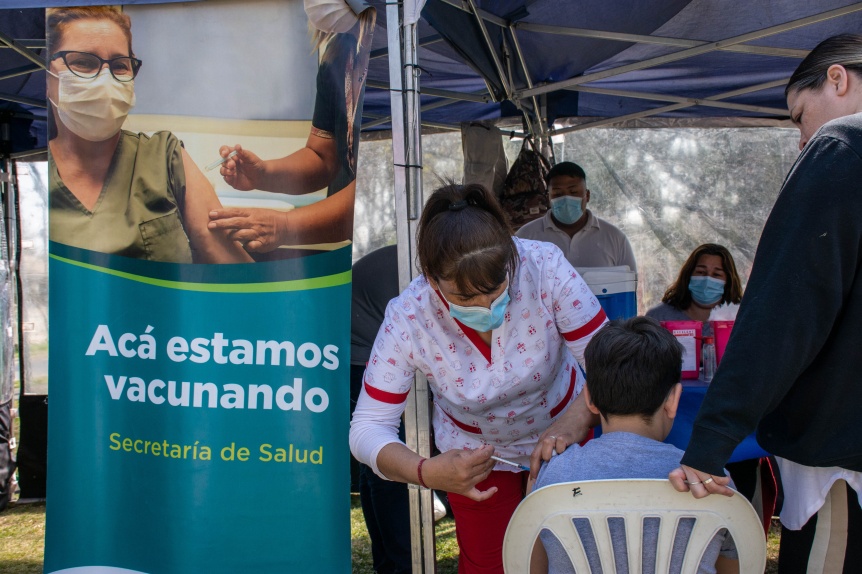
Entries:
<svg viewBox="0 0 862 574">
<path fill-rule="evenodd" d="M 186 192 L 182 144 L 170 132 L 120 132 L 93 210 L 78 201 L 49 163 L 51 240 L 135 259 L 191 263 L 179 206 Z"/>
</svg>

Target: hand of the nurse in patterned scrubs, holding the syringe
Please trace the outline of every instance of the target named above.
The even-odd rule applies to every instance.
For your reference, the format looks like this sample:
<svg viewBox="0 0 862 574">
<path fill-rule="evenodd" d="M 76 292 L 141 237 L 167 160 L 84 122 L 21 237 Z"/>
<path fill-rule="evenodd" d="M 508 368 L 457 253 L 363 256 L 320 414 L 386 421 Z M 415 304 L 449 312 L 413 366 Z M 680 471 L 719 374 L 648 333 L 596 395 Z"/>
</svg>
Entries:
<svg viewBox="0 0 862 574">
<path fill-rule="evenodd" d="M 431 457 L 422 465 L 422 480 L 435 490 L 445 490 L 481 502 L 494 496 L 497 487 L 479 490 L 476 485 L 488 478 L 496 464 L 491 460 L 494 447 L 476 450 L 450 450 Z"/>
</svg>

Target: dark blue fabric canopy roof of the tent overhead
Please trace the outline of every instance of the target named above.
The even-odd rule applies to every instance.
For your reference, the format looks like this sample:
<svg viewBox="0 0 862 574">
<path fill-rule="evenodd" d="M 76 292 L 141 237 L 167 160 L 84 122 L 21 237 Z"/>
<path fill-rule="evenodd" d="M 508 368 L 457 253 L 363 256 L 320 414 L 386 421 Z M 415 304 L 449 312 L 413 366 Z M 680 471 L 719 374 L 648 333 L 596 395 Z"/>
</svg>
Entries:
<svg viewBox="0 0 862 574">
<path fill-rule="evenodd" d="M 379 16 L 364 130 L 390 118 L 385 3 L 370 3 Z M 650 116 L 786 119 L 787 78 L 842 32 L 862 33 L 862 2 L 428 0 L 418 26 L 422 123 L 514 117 L 546 134 L 570 117 L 589 119 L 556 133 Z M 46 145 L 43 53 L 42 9 L 0 12 L 0 125 L 11 121 L 13 153 Z"/>
</svg>

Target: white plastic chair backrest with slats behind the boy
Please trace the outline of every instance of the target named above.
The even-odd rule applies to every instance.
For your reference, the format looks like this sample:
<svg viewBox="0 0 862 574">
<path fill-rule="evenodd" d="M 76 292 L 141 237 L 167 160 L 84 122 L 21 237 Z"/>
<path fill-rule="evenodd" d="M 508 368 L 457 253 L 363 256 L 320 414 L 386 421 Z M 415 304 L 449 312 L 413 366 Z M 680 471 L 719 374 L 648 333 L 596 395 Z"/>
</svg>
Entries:
<svg viewBox="0 0 862 574">
<path fill-rule="evenodd" d="M 644 528 L 645 520 L 650 524 L 648 528 Z M 679 528 L 680 524 L 685 526 Z M 684 541 L 689 527 L 682 572 L 697 572 L 707 545 L 721 528 L 727 528 L 733 536 L 739 571 L 763 572 L 763 527 L 742 495 L 712 495 L 697 500 L 687 492 L 677 492 L 667 480 L 643 479 L 563 482 L 532 492 L 515 510 L 506 529 L 504 570 L 507 574 L 529 572 L 533 544 L 547 529 L 560 541 L 578 574 L 593 572 L 582 537 L 588 547 L 598 550 L 602 572 L 616 573 L 611 531 L 624 528 L 628 572 L 644 572 L 644 566 L 646 571 L 652 570 L 642 564 L 646 544 L 655 545 L 655 572 L 666 573 L 677 531 Z M 680 543 L 677 542 L 677 552 Z"/>
</svg>

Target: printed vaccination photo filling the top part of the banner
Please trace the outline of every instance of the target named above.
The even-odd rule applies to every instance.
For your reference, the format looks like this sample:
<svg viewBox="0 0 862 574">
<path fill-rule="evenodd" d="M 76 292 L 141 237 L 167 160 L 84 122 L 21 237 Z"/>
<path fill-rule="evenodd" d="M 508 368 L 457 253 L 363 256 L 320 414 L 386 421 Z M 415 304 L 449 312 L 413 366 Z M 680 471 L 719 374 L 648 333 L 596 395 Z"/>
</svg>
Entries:
<svg viewBox="0 0 862 574">
<path fill-rule="evenodd" d="M 177 89 L 170 80 L 184 64 L 154 49 L 164 42 L 152 32 L 165 28 L 160 19 L 181 25 L 181 8 L 155 17 L 146 7 L 49 9 L 51 240 L 172 263 L 282 259 L 349 244 L 375 21 L 373 9 L 352 1 L 333 11 L 337 4 L 306 0 L 308 31 L 290 37 L 292 51 L 301 39 L 303 53 L 289 65 L 315 66 L 316 85 L 299 94 L 284 92 L 290 69 L 274 71 L 280 80 L 258 74 L 234 88 L 221 78 L 206 85 L 203 75 Z M 140 53 L 133 20 L 141 22 Z M 214 59 L 218 40 L 186 57 Z M 207 92 L 245 105 L 216 105 Z M 249 94 L 273 92 L 290 103 L 237 112 L 255 107 Z M 188 105 L 191 97 L 200 105 Z M 290 109 L 304 100 L 313 101 L 310 123 Z"/>
</svg>

